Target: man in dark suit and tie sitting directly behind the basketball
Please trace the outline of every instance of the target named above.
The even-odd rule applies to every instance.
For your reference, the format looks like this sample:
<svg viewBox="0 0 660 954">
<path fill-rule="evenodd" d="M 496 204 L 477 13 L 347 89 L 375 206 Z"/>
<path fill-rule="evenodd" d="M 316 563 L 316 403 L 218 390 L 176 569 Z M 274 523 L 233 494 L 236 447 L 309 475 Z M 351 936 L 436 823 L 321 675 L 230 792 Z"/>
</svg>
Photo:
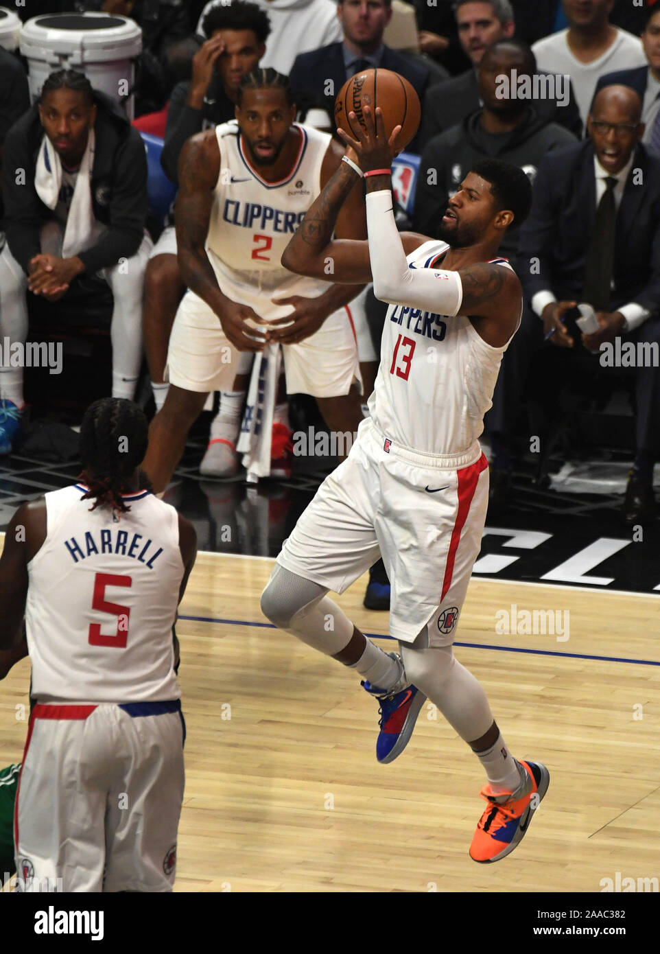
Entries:
<svg viewBox="0 0 660 954">
<path fill-rule="evenodd" d="M 343 29 L 343 41 L 296 57 L 289 83 L 294 95 L 305 101 L 316 97 L 333 121 L 335 99 L 341 87 L 355 73 L 372 67 L 401 73 L 414 87 L 423 104 L 429 85 L 428 70 L 405 53 L 390 50 L 382 34 L 392 17 L 391 0 L 339 0 L 337 15 Z M 407 147 L 417 150 L 417 137 Z"/>
</svg>

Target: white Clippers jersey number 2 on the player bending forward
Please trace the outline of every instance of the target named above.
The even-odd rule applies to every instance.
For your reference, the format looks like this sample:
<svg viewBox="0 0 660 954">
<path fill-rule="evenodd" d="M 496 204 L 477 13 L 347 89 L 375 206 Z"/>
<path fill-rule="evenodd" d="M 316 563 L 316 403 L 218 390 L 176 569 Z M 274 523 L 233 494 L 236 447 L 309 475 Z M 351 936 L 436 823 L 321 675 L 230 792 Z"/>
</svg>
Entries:
<svg viewBox="0 0 660 954">
<path fill-rule="evenodd" d="M 280 264 L 284 249 L 320 193 L 320 167 L 331 136 L 311 126 L 299 130 L 299 153 L 288 176 L 266 182 L 252 165 L 236 119 L 216 127 L 220 174 L 206 239 L 207 253 L 222 278 L 259 291 L 309 298 L 328 282 L 294 275 Z M 229 181 L 228 181 L 229 180 Z M 231 295 L 230 295 L 231 298 Z"/>
</svg>

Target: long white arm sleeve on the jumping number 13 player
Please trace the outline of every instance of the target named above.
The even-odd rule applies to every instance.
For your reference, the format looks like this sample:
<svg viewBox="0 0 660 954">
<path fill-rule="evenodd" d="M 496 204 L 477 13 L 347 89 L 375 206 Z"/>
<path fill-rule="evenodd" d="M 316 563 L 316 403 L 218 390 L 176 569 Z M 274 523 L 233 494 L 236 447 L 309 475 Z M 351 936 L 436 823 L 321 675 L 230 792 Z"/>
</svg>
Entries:
<svg viewBox="0 0 660 954">
<path fill-rule="evenodd" d="M 408 266 L 389 189 L 367 193 L 366 226 L 377 299 L 437 315 L 458 315 L 463 302 L 459 273 Z"/>
</svg>

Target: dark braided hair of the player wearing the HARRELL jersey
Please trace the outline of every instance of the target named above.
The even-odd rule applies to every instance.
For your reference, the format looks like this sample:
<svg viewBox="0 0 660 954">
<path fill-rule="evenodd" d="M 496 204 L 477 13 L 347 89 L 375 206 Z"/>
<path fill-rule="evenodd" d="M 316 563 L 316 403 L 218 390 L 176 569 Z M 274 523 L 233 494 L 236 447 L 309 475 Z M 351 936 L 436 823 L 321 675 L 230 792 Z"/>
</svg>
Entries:
<svg viewBox="0 0 660 954">
<path fill-rule="evenodd" d="M 82 500 L 93 500 L 91 510 L 112 507 L 127 513 L 131 508 L 122 500 L 135 467 L 147 451 L 149 425 L 142 410 L 124 398 L 102 398 L 87 408 L 80 426 L 80 460 L 83 466 L 78 480 L 89 487 Z M 146 486 L 148 478 L 140 475 Z"/>
</svg>

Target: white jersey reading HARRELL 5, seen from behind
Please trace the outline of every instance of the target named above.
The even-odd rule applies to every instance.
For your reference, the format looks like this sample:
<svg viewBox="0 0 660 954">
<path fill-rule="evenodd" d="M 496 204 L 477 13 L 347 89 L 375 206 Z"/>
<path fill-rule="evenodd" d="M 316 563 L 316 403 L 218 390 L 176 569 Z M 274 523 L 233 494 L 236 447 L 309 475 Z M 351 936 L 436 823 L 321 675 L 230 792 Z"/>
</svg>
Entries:
<svg viewBox="0 0 660 954">
<path fill-rule="evenodd" d="M 130 511 L 113 517 L 81 500 L 86 489 L 46 494 L 46 539 L 28 564 L 31 695 L 177 699 L 172 626 L 184 567 L 175 508 L 137 491 L 123 495 Z"/>
</svg>

